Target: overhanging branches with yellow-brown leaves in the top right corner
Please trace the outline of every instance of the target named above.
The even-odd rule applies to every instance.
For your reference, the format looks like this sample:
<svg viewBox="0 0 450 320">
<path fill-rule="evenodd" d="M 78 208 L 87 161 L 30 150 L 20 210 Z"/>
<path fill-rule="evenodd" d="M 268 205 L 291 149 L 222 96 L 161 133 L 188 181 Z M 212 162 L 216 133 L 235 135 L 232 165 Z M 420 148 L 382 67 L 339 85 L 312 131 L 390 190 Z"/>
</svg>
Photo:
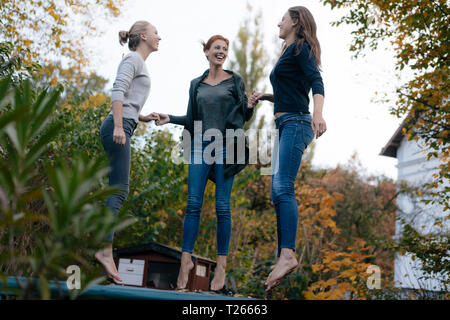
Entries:
<svg viewBox="0 0 450 320">
<path fill-rule="evenodd" d="M 350 46 L 355 57 L 362 56 L 364 49 L 375 50 L 381 42 L 389 40 L 397 74 L 408 70 L 412 75 L 396 88 L 391 112 L 406 118 L 404 134 L 410 140 L 425 142 L 429 159 L 440 158 L 439 174 L 426 187 L 433 190 L 432 202 L 449 209 L 448 1 L 322 0 L 322 3 L 332 9 L 348 9 L 333 25 L 345 23 L 357 27 Z M 439 185 L 442 188 L 437 188 Z"/>
</svg>

